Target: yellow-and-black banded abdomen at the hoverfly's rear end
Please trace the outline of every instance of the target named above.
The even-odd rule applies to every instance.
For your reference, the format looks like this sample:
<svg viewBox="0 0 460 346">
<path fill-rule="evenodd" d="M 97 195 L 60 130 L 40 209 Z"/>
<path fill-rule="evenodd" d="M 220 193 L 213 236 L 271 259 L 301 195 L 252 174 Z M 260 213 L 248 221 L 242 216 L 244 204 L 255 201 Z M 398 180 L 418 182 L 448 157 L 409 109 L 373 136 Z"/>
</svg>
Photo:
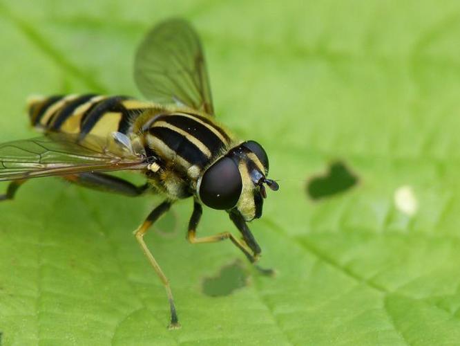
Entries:
<svg viewBox="0 0 460 346">
<path fill-rule="evenodd" d="M 133 119 L 151 107 L 126 96 L 54 95 L 31 100 L 28 105 L 30 122 L 44 131 L 108 136 L 113 131 L 127 134 Z"/>
</svg>

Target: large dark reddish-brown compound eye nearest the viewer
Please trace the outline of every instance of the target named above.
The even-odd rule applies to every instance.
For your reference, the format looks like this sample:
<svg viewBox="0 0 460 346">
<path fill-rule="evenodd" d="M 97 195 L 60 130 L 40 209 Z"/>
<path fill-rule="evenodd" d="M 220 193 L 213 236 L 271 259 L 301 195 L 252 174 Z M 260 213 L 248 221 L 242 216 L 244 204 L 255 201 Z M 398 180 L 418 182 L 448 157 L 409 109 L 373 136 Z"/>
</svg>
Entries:
<svg viewBox="0 0 460 346">
<path fill-rule="evenodd" d="M 201 201 L 213 209 L 231 209 L 240 199 L 242 179 L 238 166 L 224 157 L 204 172 L 200 184 Z"/>
</svg>

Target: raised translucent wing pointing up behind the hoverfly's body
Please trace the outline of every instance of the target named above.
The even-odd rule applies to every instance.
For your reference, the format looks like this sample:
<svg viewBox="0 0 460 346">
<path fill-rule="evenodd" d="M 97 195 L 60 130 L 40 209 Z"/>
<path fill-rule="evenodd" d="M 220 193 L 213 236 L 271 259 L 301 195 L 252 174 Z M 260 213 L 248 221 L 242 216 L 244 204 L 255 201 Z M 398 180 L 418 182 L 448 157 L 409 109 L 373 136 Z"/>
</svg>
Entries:
<svg viewBox="0 0 460 346">
<path fill-rule="evenodd" d="M 200 39 L 183 19 L 163 21 L 147 33 L 137 48 L 134 78 L 150 100 L 214 114 Z"/>
</svg>

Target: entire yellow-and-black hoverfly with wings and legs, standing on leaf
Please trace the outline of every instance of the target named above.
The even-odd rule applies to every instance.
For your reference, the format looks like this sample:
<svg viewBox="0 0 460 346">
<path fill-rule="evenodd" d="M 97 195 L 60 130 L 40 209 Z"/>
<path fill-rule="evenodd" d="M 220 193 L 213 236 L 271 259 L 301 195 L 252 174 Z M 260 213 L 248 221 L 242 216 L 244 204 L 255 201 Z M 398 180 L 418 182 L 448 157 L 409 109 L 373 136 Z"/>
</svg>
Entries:
<svg viewBox="0 0 460 346">
<path fill-rule="evenodd" d="M 214 119 L 202 46 L 182 19 L 155 26 L 137 48 L 135 82 L 150 102 L 126 96 L 54 95 L 28 104 L 41 138 L 0 145 L 0 181 L 12 181 L 1 199 L 12 199 L 20 185 L 39 176 L 61 176 L 87 188 L 165 201 L 135 230 L 135 238 L 164 284 L 171 309 L 170 328 L 180 327 L 169 281 L 148 250 L 148 228 L 179 199 L 193 197 L 187 239 L 192 244 L 230 239 L 251 262 L 260 247 L 247 221 L 262 215 L 269 161 L 255 141 L 236 140 Z M 108 174 L 137 171 L 142 186 Z M 229 232 L 197 237 L 202 204 L 225 210 L 242 235 Z"/>
</svg>

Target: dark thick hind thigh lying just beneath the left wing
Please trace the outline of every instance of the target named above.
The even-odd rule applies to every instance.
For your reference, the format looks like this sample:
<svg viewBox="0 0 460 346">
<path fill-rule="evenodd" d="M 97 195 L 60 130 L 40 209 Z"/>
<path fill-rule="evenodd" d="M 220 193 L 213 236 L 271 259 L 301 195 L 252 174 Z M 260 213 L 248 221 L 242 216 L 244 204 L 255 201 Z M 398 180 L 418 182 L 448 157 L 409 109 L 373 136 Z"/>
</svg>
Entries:
<svg viewBox="0 0 460 346">
<path fill-rule="evenodd" d="M 148 190 L 148 184 L 136 186 L 129 181 L 104 173 L 82 173 L 64 176 L 64 179 L 93 190 L 124 194 L 129 197 L 140 196 Z"/>
</svg>

